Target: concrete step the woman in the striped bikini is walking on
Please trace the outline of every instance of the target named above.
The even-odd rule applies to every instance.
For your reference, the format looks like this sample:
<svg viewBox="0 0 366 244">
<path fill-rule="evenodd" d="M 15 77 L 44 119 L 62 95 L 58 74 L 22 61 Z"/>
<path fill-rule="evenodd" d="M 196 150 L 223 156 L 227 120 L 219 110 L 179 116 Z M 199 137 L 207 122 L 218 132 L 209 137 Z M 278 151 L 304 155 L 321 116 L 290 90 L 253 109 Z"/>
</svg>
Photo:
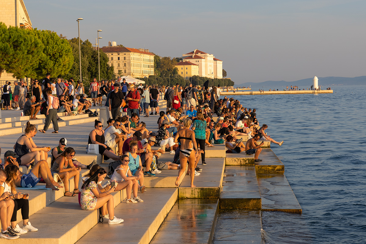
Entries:
<svg viewBox="0 0 366 244">
<path fill-rule="evenodd" d="M 194 177 L 191 187 L 190 176 L 186 175 L 179 186 L 179 198 L 219 198 L 224 176 L 225 159 L 210 158 L 202 168 L 201 175 Z"/>
</svg>

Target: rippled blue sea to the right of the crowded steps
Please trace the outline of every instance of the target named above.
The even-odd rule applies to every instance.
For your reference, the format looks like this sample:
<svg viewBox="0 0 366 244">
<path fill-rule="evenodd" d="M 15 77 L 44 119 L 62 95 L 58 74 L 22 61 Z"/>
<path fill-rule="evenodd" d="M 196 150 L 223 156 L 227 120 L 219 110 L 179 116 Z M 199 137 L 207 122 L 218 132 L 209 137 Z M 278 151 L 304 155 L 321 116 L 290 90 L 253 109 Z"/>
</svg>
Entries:
<svg viewBox="0 0 366 244">
<path fill-rule="evenodd" d="M 257 109 L 268 135 L 284 140 L 272 150 L 303 210 L 262 212 L 266 243 L 366 243 L 366 86 L 332 89 L 232 96 Z"/>
</svg>

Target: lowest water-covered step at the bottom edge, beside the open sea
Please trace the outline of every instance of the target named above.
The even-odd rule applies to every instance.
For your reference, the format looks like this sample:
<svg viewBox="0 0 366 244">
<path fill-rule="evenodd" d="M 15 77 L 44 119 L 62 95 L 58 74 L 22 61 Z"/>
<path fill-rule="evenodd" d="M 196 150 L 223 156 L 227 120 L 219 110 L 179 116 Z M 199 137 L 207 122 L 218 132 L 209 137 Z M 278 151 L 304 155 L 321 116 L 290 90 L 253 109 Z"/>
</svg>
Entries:
<svg viewBox="0 0 366 244">
<path fill-rule="evenodd" d="M 212 244 L 264 244 L 259 210 L 220 209 Z"/>
</svg>

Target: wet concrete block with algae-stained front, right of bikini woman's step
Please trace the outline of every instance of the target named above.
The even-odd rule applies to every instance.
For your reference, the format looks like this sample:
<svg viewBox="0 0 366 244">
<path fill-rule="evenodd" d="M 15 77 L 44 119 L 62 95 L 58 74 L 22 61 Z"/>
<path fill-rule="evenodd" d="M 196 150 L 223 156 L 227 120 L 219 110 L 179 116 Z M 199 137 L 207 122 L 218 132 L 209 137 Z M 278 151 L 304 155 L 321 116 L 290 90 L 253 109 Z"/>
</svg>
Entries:
<svg viewBox="0 0 366 244">
<path fill-rule="evenodd" d="M 225 167 L 220 208 L 261 209 L 255 166 Z"/>
</svg>

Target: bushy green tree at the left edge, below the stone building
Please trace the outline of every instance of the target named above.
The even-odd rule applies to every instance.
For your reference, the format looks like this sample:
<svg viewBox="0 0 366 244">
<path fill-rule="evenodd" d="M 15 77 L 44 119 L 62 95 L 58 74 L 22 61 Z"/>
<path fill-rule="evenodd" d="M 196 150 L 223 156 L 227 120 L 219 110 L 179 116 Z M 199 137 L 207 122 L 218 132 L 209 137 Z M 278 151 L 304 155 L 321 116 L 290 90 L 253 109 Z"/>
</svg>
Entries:
<svg viewBox="0 0 366 244">
<path fill-rule="evenodd" d="M 0 23 L 0 77 L 3 71 L 14 78 L 34 77 L 44 45 L 34 30 L 6 27 Z"/>
</svg>

